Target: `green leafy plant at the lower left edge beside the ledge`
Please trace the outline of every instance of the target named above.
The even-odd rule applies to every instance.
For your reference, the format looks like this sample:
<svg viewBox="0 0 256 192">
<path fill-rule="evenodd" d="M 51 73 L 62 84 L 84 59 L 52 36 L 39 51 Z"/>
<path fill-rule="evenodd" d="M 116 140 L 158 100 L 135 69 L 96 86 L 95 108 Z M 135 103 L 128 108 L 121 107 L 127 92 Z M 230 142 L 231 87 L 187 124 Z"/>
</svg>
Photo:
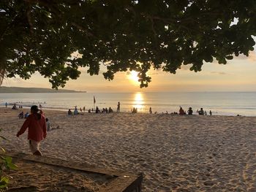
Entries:
<svg viewBox="0 0 256 192">
<path fill-rule="evenodd" d="M 0 129 L 1 131 L 1 129 Z M 7 140 L 5 137 L 0 136 L 1 139 Z M 4 148 L 1 147 L 1 150 L 3 153 L 5 153 Z M 7 189 L 7 185 L 10 180 L 10 176 L 5 174 L 6 171 L 12 169 L 12 170 L 17 170 L 18 166 L 15 164 L 12 164 L 12 158 L 3 155 L 0 153 L 0 191 L 4 191 Z"/>
</svg>

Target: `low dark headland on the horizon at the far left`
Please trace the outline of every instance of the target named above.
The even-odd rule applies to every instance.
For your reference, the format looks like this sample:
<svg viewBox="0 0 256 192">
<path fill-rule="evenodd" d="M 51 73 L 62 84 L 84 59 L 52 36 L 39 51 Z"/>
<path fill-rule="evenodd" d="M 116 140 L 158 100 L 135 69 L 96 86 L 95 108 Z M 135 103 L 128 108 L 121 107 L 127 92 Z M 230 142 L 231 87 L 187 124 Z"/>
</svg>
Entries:
<svg viewBox="0 0 256 192">
<path fill-rule="evenodd" d="M 69 89 L 0 87 L 0 93 L 86 93 Z"/>
</svg>

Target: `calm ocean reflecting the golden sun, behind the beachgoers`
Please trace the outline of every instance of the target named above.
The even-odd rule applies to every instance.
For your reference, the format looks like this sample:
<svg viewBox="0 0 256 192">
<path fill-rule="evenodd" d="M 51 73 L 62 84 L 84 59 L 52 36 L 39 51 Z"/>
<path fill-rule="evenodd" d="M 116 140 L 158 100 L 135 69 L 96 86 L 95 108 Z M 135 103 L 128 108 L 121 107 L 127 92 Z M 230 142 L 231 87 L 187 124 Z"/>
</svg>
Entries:
<svg viewBox="0 0 256 192">
<path fill-rule="evenodd" d="M 95 97 L 95 104 L 94 104 Z M 111 107 L 116 111 L 120 101 L 121 112 L 170 113 L 178 112 L 181 106 L 184 110 L 192 107 L 194 114 L 203 107 L 212 115 L 245 115 L 256 116 L 256 92 L 188 92 L 188 93 L 0 93 L 0 106 L 7 102 L 23 105 L 24 108 L 33 104 L 41 104 L 43 108 L 57 110 L 73 110 L 75 106 L 86 110 L 89 108 Z M 24 109 L 26 110 L 26 109 Z"/>
</svg>

